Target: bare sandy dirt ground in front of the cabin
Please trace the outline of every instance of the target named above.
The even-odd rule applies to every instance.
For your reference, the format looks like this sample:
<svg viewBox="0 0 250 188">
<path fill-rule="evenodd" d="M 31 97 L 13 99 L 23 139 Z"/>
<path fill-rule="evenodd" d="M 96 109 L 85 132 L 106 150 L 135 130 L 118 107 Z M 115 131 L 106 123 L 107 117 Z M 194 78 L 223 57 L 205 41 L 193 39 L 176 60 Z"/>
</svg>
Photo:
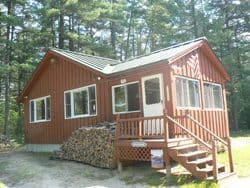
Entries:
<svg viewBox="0 0 250 188">
<path fill-rule="evenodd" d="M 161 183 L 164 182 L 166 185 L 165 174 L 150 168 L 149 164 L 126 167 L 124 171 L 118 173 L 117 170 L 100 169 L 82 163 L 50 160 L 49 156 L 48 153 L 31 153 L 23 149 L 0 152 L 0 188 L 5 186 L 10 188 L 136 188 L 163 187 Z M 178 168 L 175 171 L 178 173 Z M 167 185 L 179 187 L 193 182 L 193 177 L 189 174 L 172 180 L 173 183 L 170 182 Z M 220 187 L 235 188 L 246 185 L 250 185 L 249 177 L 235 178 Z"/>
</svg>

